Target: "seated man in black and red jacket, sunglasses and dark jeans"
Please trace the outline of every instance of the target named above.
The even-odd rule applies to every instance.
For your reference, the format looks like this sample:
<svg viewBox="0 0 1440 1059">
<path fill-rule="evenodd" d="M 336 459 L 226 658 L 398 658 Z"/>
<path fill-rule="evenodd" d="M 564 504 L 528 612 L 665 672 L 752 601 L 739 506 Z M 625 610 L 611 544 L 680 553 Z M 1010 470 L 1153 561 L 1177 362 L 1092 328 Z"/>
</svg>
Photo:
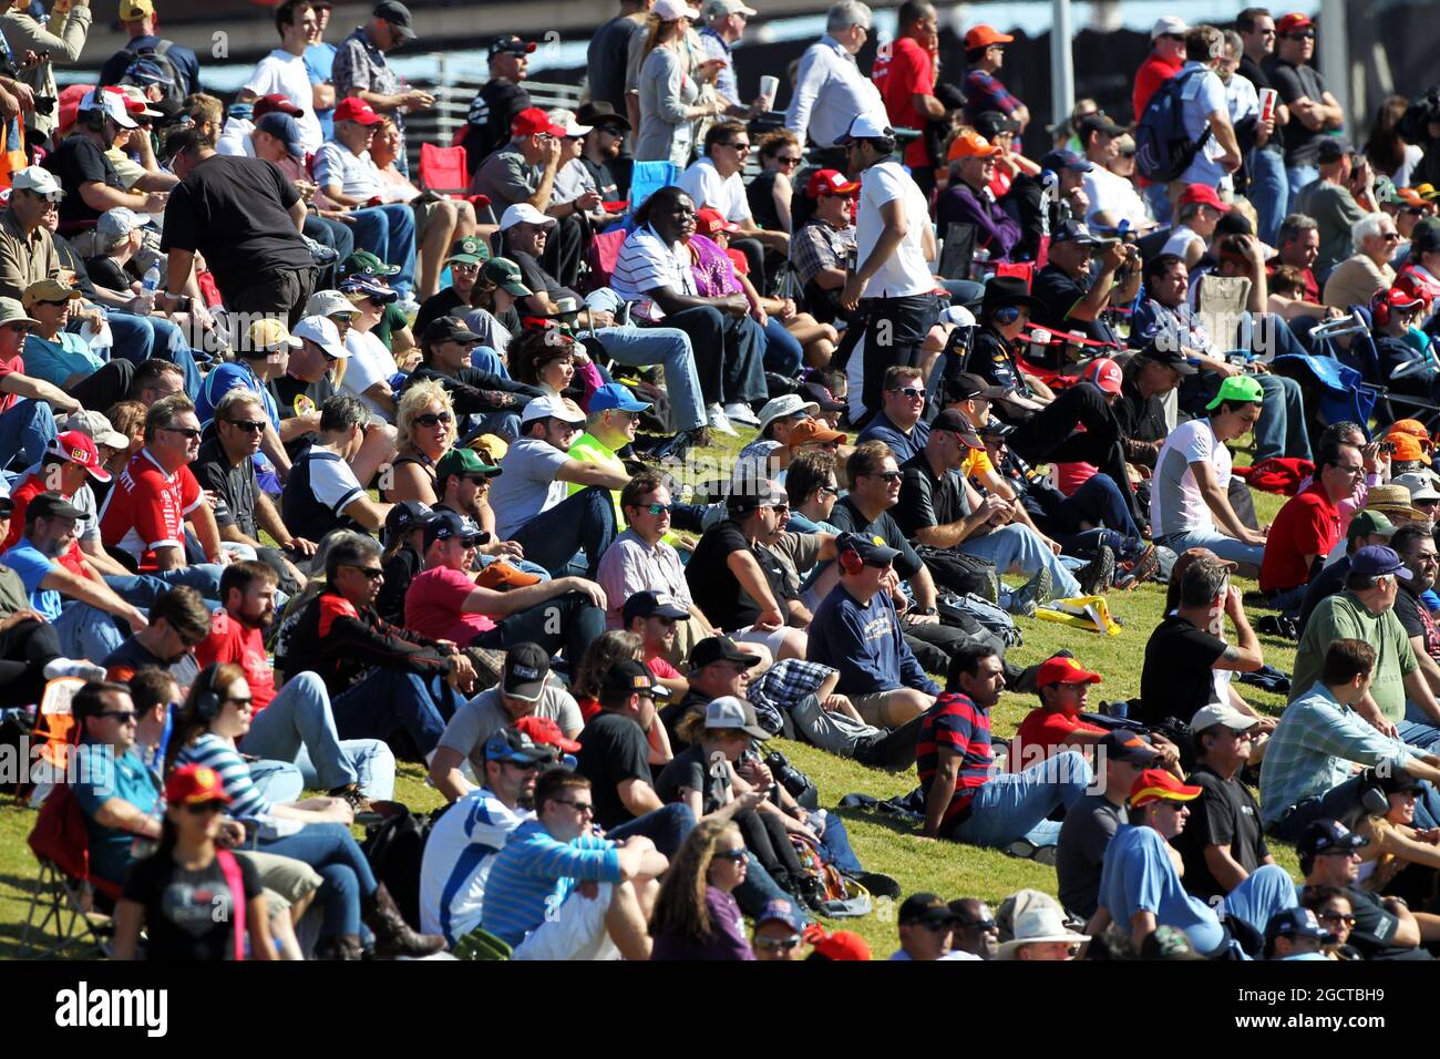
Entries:
<svg viewBox="0 0 1440 1059">
<path fill-rule="evenodd" d="M 475 679 L 455 644 L 438 644 L 390 625 L 374 611 L 380 546 L 347 533 L 325 553 L 325 586 L 281 625 L 275 669 L 287 679 L 312 671 L 325 683 L 341 739 L 389 739 L 405 729 L 428 756 L 445 729 L 438 703 Z"/>
</svg>

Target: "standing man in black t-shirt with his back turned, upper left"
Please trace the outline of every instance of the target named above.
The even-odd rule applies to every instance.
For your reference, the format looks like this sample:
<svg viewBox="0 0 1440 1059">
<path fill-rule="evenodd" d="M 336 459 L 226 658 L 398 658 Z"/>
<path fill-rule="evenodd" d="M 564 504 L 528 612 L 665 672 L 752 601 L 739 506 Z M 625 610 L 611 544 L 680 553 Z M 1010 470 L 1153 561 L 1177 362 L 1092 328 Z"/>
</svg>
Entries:
<svg viewBox="0 0 1440 1059">
<path fill-rule="evenodd" d="M 295 184 L 272 161 L 216 154 L 193 128 L 167 143 L 180 184 L 160 239 L 170 261 L 170 304 L 161 307 L 179 304 L 199 251 L 232 313 L 264 313 L 294 326 L 318 275 L 300 231 L 305 202 Z"/>
</svg>

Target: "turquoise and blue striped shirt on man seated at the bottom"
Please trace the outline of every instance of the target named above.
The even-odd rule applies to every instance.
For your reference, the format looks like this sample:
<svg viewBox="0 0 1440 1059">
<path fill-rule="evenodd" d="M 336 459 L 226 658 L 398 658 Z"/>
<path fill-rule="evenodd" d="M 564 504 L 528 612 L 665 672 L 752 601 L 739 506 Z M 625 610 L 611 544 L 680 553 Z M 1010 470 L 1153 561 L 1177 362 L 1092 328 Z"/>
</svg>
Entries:
<svg viewBox="0 0 1440 1059">
<path fill-rule="evenodd" d="M 621 882 L 616 844 L 588 834 L 559 841 L 539 820 L 528 820 L 494 859 L 481 925 L 518 945 L 530 931 L 559 915 L 573 883 L 585 880 Z"/>
</svg>

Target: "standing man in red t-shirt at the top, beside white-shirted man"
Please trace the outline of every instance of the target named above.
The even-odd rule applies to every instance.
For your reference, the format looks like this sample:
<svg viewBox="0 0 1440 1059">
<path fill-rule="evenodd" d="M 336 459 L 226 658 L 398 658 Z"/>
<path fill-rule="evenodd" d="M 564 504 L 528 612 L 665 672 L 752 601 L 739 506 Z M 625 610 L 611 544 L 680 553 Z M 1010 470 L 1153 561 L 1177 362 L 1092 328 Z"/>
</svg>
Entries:
<svg viewBox="0 0 1440 1059">
<path fill-rule="evenodd" d="M 940 49 L 935 4 L 929 0 L 906 0 L 896 16 L 896 30 L 890 48 L 881 49 L 876 58 L 871 78 L 880 88 L 880 98 L 884 99 L 886 115 L 891 125 L 924 130 L 927 121 L 945 117 L 945 104 L 935 97 Z M 966 40 L 975 32 L 972 29 Z M 1004 37 L 1004 40 L 1011 39 Z M 1001 52 L 999 48 L 995 50 Z M 981 110 L 989 108 L 981 107 Z M 903 160 L 929 202 L 935 196 L 935 167 L 939 164 L 939 158 L 930 154 L 929 137 L 919 135 L 906 144 Z"/>
</svg>

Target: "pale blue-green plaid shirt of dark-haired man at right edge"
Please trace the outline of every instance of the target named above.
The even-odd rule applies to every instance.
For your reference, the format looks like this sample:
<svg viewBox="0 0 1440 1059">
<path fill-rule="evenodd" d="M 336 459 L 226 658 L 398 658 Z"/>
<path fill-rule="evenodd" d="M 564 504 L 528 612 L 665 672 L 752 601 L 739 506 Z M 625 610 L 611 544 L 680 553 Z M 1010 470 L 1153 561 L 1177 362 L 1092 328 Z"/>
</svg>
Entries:
<svg viewBox="0 0 1440 1059">
<path fill-rule="evenodd" d="M 1352 764 L 1388 761 L 1401 767 L 1420 751 L 1381 735 L 1349 706 L 1335 700 L 1325 684 L 1284 707 L 1270 736 L 1260 769 L 1260 818 L 1266 830 L 1306 798 L 1351 778 Z"/>
</svg>

